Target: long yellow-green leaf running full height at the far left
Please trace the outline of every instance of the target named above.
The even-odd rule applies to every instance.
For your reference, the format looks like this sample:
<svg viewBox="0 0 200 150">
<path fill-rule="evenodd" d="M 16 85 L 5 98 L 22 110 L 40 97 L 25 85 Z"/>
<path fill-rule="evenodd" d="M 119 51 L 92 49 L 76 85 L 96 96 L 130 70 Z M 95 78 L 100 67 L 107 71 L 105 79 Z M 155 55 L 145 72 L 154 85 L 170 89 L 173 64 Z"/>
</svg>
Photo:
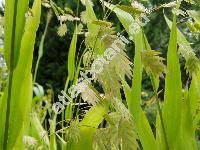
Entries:
<svg viewBox="0 0 200 150">
<path fill-rule="evenodd" d="M 26 20 L 24 34 L 21 40 L 20 55 L 18 64 L 13 72 L 12 87 L 10 99 L 5 96 L 2 101 L 10 101 L 9 112 L 7 112 L 8 119 L 6 123 L 8 126 L 5 128 L 5 133 L 0 132 L 1 138 L 5 134 L 4 148 L 10 150 L 15 148 L 22 148 L 22 136 L 26 132 L 26 127 L 29 123 L 30 106 L 32 100 L 32 60 L 33 60 L 33 49 L 36 37 L 36 31 L 40 22 L 40 11 L 41 1 L 36 0 L 32 8 L 32 15 Z M 20 11 L 20 10 L 19 10 Z M 10 86 L 10 85 L 9 85 Z M 6 94 L 7 92 L 5 92 Z M 7 107 L 0 105 L 1 110 L 5 112 Z M 5 109 L 5 110 L 4 110 Z M 4 118 L 5 114 L 1 114 Z M 0 126 L 4 128 L 5 120 L 0 122 Z M 3 129 L 4 130 L 4 129 Z M 6 138 L 7 136 L 7 138 Z M 2 146 L 2 145 L 0 145 Z"/>
</svg>

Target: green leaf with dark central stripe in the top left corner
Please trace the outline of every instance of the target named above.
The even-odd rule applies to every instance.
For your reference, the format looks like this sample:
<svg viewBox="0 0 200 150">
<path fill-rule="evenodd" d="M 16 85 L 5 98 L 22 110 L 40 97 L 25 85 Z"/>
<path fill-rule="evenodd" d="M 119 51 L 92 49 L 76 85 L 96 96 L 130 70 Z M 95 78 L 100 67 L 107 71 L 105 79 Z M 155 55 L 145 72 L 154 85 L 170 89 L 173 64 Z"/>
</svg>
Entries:
<svg viewBox="0 0 200 150">
<path fill-rule="evenodd" d="M 5 59 L 10 67 L 12 39 L 14 39 L 14 66 L 17 65 L 20 45 L 25 26 L 25 13 L 28 10 L 28 0 L 7 0 L 5 5 Z M 15 33 L 13 33 L 13 31 Z"/>
</svg>

